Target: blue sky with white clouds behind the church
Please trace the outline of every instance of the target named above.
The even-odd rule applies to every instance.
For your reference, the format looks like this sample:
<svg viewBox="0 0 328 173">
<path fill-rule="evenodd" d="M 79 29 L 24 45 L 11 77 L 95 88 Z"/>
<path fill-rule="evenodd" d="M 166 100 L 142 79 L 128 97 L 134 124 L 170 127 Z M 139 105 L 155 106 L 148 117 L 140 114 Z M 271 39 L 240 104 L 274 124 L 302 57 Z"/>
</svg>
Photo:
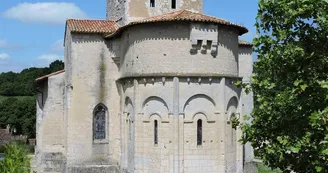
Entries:
<svg viewBox="0 0 328 173">
<path fill-rule="evenodd" d="M 63 59 L 65 19 L 105 19 L 106 0 L 1 0 L 0 73 Z M 257 0 L 204 0 L 204 13 L 242 24 L 255 35 Z"/>
</svg>

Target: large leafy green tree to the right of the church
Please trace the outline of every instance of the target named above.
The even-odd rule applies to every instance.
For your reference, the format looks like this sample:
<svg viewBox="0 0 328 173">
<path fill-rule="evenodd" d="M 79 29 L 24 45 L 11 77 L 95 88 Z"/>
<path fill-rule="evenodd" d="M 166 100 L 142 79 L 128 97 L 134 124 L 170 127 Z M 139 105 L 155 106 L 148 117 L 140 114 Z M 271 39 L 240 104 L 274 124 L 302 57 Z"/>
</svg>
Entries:
<svg viewBox="0 0 328 173">
<path fill-rule="evenodd" d="M 259 0 L 255 26 L 255 105 L 243 142 L 271 168 L 326 173 L 328 1 Z"/>
</svg>

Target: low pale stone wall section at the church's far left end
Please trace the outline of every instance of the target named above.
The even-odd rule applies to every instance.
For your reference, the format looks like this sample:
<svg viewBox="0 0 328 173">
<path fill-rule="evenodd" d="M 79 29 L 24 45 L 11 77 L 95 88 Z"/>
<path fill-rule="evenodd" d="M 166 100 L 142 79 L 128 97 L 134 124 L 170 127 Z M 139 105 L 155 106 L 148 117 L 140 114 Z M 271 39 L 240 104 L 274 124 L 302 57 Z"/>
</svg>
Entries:
<svg viewBox="0 0 328 173">
<path fill-rule="evenodd" d="M 37 165 L 40 172 L 62 172 L 66 164 L 64 74 L 51 76 L 42 82 L 47 84 L 40 85 L 38 93 Z"/>
</svg>

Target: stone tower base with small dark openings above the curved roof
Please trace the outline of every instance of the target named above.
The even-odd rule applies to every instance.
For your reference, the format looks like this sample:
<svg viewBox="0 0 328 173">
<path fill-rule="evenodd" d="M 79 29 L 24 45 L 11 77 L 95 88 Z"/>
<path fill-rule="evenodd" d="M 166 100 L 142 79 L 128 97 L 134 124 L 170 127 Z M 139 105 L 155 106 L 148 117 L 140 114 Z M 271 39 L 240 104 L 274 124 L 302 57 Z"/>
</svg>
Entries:
<svg viewBox="0 0 328 173">
<path fill-rule="evenodd" d="M 204 0 L 107 0 L 107 19 L 119 25 L 175 10 L 203 13 Z"/>
</svg>

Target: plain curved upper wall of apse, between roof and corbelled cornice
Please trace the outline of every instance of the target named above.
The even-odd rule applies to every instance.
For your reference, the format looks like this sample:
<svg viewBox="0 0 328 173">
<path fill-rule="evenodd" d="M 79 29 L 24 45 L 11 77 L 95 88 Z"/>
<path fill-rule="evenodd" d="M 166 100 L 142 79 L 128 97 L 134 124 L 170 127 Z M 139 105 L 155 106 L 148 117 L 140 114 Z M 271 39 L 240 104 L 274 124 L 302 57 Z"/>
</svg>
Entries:
<svg viewBox="0 0 328 173">
<path fill-rule="evenodd" d="M 156 23 L 130 27 L 121 39 L 121 77 L 237 77 L 237 32 L 215 25 L 200 24 L 202 29 L 199 30 L 194 26 L 189 23 Z M 207 44 L 216 46 L 212 48 Z M 211 49 L 216 50 L 215 56 Z"/>
</svg>

